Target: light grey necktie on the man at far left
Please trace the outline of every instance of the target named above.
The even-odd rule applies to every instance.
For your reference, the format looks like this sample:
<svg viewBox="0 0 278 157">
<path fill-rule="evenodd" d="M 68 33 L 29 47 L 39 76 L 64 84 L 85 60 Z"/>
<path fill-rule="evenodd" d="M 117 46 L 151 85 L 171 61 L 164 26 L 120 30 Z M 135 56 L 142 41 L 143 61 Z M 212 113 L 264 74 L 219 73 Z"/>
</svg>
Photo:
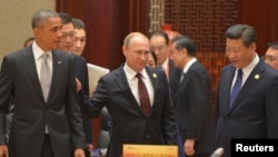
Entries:
<svg viewBox="0 0 278 157">
<path fill-rule="evenodd" d="M 44 101 L 48 99 L 48 94 L 51 85 L 51 70 L 48 63 L 49 56 L 48 53 L 43 53 L 40 69 L 40 86 L 44 97 Z"/>
</svg>

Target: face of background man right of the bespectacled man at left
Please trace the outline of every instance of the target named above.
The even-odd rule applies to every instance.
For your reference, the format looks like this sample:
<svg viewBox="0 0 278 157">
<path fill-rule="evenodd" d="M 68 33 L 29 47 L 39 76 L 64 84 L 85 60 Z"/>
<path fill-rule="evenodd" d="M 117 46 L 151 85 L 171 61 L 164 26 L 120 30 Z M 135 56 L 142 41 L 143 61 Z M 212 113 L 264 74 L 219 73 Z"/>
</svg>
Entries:
<svg viewBox="0 0 278 157">
<path fill-rule="evenodd" d="M 73 43 L 72 53 L 81 56 L 86 45 L 86 32 L 83 29 L 75 29 L 76 31 L 76 41 Z"/>
</svg>

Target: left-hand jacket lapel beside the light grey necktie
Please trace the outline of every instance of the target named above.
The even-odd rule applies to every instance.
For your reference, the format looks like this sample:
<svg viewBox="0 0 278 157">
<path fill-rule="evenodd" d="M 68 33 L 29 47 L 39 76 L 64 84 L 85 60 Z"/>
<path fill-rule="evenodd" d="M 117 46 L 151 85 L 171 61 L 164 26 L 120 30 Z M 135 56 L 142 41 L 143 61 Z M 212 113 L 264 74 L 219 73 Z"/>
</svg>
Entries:
<svg viewBox="0 0 278 157">
<path fill-rule="evenodd" d="M 29 75 L 29 78 L 33 82 L 33 86 L 36 86 L 37 92 L 40 95 L 41 99 L 44 101 L 43 94 L 40 87 L 40 80 L 37 71 L 36 61 L 33 58 L 33 51 L 32 47 L 29 47 L 27 51 L 23 52 L 23 62 L 26 65 L 27 73 Z"/>
</svg>

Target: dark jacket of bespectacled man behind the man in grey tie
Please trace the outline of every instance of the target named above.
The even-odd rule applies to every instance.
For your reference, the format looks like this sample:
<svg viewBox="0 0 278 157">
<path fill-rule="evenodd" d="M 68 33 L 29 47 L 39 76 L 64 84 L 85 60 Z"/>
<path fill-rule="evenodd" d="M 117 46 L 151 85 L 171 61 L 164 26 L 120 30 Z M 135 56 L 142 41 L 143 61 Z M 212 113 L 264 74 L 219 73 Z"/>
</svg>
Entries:
<svg viewBox="0 0 278 157">
<path fill-rule="evenodd" d="M 83 57 L 73 55 L 76 59 L 76 76 L 82 85 L 85 95 L 89 97 L 89 77 L 87 61 Z M 85 136 L 87 144 L 91 144 L 91 120 L 83 120 Z"/>
</svg>

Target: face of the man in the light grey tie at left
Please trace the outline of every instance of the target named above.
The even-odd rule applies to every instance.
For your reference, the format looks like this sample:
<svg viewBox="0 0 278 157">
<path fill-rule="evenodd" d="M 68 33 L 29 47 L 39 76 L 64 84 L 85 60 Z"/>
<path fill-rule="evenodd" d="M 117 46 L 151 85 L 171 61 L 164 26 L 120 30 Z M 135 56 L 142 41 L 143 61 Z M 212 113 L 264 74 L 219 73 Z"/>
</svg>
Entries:
<svg viewBox="0 0 278 157">
<path fill-rule="evenodd" d="M 61 19 L 49 18 L 42 27 L 33 29 L 36 42 L 43 51 L 57 49 L 61 37 Z"/>
</svg>

